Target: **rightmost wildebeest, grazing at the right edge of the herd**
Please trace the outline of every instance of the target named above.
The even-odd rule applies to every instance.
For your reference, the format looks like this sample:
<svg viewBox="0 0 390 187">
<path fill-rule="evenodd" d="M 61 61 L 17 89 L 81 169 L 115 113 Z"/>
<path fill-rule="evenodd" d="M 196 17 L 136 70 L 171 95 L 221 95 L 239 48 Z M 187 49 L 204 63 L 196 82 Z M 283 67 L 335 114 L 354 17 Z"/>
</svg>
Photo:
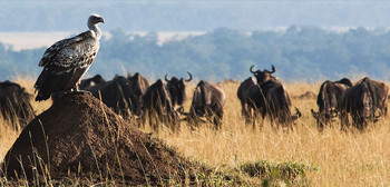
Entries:
<svg viewBox="0 0 390 187">
<path fill-rule="evenodd" d="M 350 124 L 348 114 L 352 117 L 352 125 L 360 130 L 367 128 L 369 122 L 376 122 L 381 116 L 386 116 L 388 94 L 387 85 L 368 77 L 347 89 L 342 98 L 342 129 Z"/>
</svg>

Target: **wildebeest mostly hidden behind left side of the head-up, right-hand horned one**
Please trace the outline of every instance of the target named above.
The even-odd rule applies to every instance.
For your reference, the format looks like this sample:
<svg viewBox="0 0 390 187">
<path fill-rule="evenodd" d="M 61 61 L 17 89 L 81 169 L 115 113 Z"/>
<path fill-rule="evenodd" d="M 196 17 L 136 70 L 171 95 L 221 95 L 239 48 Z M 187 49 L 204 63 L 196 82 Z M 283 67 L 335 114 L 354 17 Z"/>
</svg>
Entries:
<svg viewBox="0 0 390 187">
<path fill-rule="evenodd" d="M 252 77 L 247 78 L 243 82 L 241 82 L 238 89 L 237 89 L 237 97 L 241 102 L 241 114 L 245 118 L 245 121 L 247 121 L 250 114 L 248 114 L 248 106 L 246 104 L 246 90 L 251 88 L 252 86 L 255 86 L 256 82 L 253 80 Z"/>
</svg>

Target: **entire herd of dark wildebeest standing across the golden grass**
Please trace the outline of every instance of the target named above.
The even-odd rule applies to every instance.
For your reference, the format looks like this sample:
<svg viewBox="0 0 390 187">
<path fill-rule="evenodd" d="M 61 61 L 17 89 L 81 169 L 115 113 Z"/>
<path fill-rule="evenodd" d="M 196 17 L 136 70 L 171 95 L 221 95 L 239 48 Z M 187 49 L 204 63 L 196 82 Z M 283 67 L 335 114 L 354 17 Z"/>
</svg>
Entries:
<svg viewBox="0 0 390 187">
<path fill-rule="evenodd" d="M 257 119 L 269 118 L 274 128 L 293 129 L 301 111 L 295 107 L 295 112 L 291 112 L 292 104 L 287 90 L 273 76 L 276 72 L 275 67 L 263 71 L 253 68 L 254 66 L 250 68 L 253 77 L 241 82 L 237 89 L 245 122 L 255 128 Z M 183 105 L 187 100 L 186 83 L 193 80 L 193 75 L 187 73 L 187 79 L 169 79 L 166 75 L 165 82 L 158 79 L 150 86 L 138 72 L 127 77 L 115 76 L 109 81 L 97 75 L 81 80 L 79 88 L 100 99 L 124 118 L 135 118 L 140 126 L 148 122 L 156 131 L 159 127 L 176 131 L 182 120 L 188 121 L 192 127 L 208 121 L 215 129 L 220 129 L 226 100 L 224 91 L 217 85 L 201 80 L 194 90 L 189 111 L 185 112 Z M 333 120 L 339 120 L 342 129 L 354 127 L 363 130 L 369 124 L 377 122 L 387 115 L 388 95 L 389 87 L 386 83 L 368 77 L 354 86 L 347 78 L 326 80 L 318 94 L 319 110 L 311 109 L 311 112 L 320 130 L 331 126 Z M 52 94 L 53 104 L 61 97 L 64 92 Z M 35 117 L 30 98 L 19 85 L 0 82 L 0 109 L 3 119 L 18 119 L 21 125 L 27 125 Z"/>
</svg>

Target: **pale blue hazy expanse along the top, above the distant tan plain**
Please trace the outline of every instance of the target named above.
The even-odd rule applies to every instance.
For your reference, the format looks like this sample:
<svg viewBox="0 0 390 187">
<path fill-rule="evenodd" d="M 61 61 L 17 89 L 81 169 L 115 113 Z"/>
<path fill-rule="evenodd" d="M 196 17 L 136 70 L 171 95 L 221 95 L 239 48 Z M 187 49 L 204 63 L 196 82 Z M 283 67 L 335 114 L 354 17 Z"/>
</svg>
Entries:
<svg viewBox="0 0 390 187">
<path fill-rule="evenodd" d="M 0 31 L 85 29 L 96 12 L 108 30 L 259 30 L 274 27 L 388 27 L 390 1 L 0 1 Z"/>
</svg>

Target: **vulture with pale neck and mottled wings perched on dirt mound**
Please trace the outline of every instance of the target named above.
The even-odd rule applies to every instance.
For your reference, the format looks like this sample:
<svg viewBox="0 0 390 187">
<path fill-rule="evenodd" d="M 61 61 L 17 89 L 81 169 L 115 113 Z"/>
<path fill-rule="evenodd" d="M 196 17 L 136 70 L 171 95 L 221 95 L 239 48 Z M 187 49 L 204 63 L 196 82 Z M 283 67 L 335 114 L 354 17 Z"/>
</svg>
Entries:
<svg viewBox="0 0 390 187">
<path fill-rule="evenodd" d="M 77 83 L 88 70 L 99 50 L 101 31 L 99 22 L 105 20 L 98 14 L 88 18 L 88 31 L 67 38 L 48 48 L 39 67 L 43 67 L 35 83 L 37 101 L 47 100 L 52 92 L 78 92 Z"/>
</svg>

